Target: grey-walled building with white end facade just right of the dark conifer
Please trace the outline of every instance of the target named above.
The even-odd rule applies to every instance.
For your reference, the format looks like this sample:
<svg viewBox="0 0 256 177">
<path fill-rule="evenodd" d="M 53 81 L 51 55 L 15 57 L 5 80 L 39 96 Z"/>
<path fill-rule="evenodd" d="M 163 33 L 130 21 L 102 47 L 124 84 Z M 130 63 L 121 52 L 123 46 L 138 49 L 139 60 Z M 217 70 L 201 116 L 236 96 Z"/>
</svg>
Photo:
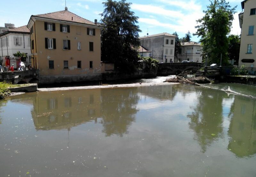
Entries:
<svg viewBox="0 0 256 177">
<path fill-rule="evenodd" d="M 175 37 L 169 33 L 160 33 L 140 37 L 140 45 L 151 51 L 151 57 L 159 63 L 170 63 L 174 61 Z"/>
</svg>

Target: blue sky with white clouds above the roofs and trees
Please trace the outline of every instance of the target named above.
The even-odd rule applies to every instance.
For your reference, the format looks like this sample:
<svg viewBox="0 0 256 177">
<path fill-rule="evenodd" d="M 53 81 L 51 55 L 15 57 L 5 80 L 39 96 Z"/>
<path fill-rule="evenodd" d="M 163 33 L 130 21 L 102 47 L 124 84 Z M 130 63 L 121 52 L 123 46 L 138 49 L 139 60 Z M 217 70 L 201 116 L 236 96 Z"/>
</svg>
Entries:
<svg viewBox="0 0 256 177">
<path fill-rule="evenodd" d="M 237 5 L 231 34 L 240 34 L 238 13 L 242 11 L 242 0 L 226 0 L 233 7 Z M 90 21 L 100 20 L 104 9 L 102 0 L 67 0 L 68 10 Z M 196 20 L 204 16 L 203 10 L 208 0 L 127 0 L 131 2 L 131 10 L 139 17 L 139 26 L 145 36 L 162 32 L 177 32 L 184 37 L 186 32 L 196 32 Z M 27 25 L 31 15 L 61 11 L 65 8 L 65 0 L 10 0 L 1 2 L 0 26 L 13 23 L 15 27 Z M 193 41 L 199 38 L 192 36 Z"/>
</svg>

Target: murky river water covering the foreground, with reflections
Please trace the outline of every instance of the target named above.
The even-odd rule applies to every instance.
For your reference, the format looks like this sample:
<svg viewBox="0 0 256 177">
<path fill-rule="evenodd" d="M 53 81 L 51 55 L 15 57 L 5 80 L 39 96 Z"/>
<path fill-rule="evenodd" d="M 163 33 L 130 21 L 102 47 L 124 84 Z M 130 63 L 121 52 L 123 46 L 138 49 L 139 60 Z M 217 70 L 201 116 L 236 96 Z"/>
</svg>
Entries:
<svg viewBox="0 0 256 177">
<path fill-rule="evenodd" d="M 256 94 L 212 85 L 228 86 Z M 177 84 L 0 101 L 1 177 L 256 176 L 255 154 L 255 100 L 220 90 Z"/>
</svg>

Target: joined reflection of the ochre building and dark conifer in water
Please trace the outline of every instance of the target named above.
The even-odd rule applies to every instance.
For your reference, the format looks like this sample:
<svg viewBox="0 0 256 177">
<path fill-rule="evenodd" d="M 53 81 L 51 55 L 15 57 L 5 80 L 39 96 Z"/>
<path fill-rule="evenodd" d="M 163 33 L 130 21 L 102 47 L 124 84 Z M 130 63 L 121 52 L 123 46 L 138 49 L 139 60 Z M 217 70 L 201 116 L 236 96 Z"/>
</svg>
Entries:
<svg viewBox="0 0 256 177">
<path fill-rule="evenodd" d="M 38 92 L 33 97 L 36 130 L 70 130 L 86 122 L 100 123 L 106 136 L 123 136 L 135 120 L 138 89 L 92 89 Z"/>
</svg>

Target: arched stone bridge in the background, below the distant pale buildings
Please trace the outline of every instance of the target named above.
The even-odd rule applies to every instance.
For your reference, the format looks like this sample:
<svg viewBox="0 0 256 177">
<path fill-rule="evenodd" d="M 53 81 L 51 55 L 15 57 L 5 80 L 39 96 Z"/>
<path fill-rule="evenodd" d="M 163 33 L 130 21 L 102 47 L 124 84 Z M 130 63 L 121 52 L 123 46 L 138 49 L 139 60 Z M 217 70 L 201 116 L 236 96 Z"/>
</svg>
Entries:
<svg viewBox="0 0 256 177">
<path fill-rule="evenodd" d="M 196 73 L 203 63 L 198 62 L 187 62 L 187 63 L 159 63 L 157 75 L 176 75 L 184 71 L 192 71 Z"/>
</svg>

